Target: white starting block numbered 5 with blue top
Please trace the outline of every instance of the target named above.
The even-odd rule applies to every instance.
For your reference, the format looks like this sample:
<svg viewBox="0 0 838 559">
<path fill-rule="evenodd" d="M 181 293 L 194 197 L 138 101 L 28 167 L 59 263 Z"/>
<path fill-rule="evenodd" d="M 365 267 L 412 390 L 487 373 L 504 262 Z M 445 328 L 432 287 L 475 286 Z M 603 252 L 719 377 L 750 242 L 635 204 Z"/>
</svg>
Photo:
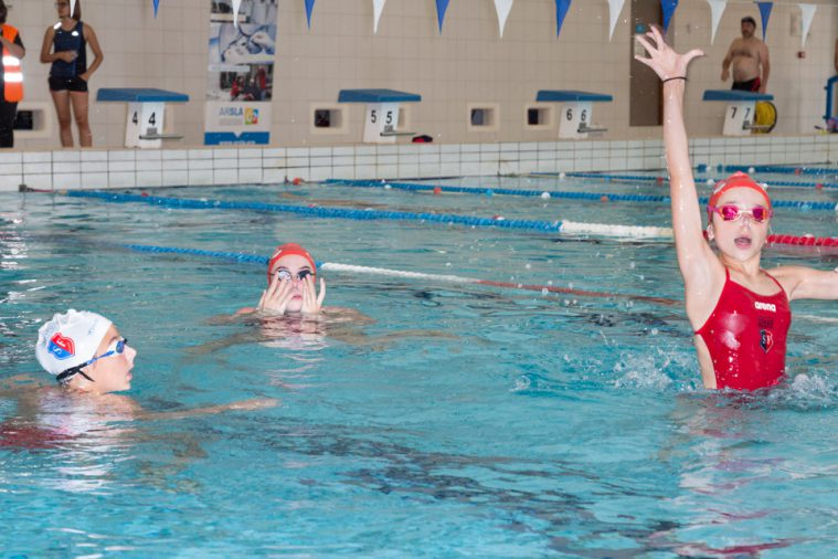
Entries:
<svg viewBox="0 0 838 559">
<path fill-rule="evenodd" d="M 422 96 L 393 89 L 341 89 L 338 103 L 365 103 L 363 141 L 367 144 L 394 144 L 397 136 L 415 133 L 399 130 L 399 105 L 418 103 Z"/>
</svg>

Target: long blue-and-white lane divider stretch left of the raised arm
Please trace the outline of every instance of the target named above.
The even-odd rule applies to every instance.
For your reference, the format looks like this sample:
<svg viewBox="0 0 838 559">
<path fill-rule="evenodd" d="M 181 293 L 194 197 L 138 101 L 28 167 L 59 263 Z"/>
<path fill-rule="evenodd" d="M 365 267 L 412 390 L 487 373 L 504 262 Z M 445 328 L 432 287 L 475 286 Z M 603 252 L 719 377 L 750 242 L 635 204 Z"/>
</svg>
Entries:
<svg viewBox="0 0 838 559">
<path fill-rule="evenodd" d="M 346 208 L 272 204 L 264 202 L 235 202 L 222 200 L 195 200 L 188 198 L 162 198 L 141 194 L 119 194 L 89 190 L 71 190 L 71 198 L 97 199 L 114 203 L 146 203 L 181 210 L 244 210 L 276 213 L 294 213 L 308 218 L 347 219 L 358 221 L 420 221 L 466 225 L 471 228 L 497 228 L 571 235 L 604 235 L 632 239 L 671 239 L 670 228 L 616 225 L 609 223 L 579 223 L 572 221 L 506 220 L 502 218 L 474 218 L 447 213 L 415 213 L 381 210 L 348 210 Z"/>
</svg>

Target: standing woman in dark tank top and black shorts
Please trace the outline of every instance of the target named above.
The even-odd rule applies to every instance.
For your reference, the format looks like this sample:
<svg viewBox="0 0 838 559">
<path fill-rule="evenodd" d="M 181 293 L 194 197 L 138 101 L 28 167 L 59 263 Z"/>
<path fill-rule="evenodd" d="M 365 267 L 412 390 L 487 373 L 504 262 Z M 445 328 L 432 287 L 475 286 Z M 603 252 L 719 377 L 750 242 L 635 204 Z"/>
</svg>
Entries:
<svg viewBox="0 0 838 559">
<path fill-rule="evenodd" d="M 41 62 L 52 63 L 50 68 L 50 93 L 55 103 L 61 126 L 61 145 L 73 147 L 73 130 L 70 106 L 73 105 L 78 144 L 93 145 L 91 124 L 87 120 L 87 82 L 99 67 L 105 56 L 93 28 L 82 23 L 82 1 L 76 0 L 73 15 L 70 15 L 70 0 L 56 0 L 59 22 L 47 28 L 41 48 Z M 93 50 L 93 64 L 87 66 L 87 44 Z"/>
</svg>

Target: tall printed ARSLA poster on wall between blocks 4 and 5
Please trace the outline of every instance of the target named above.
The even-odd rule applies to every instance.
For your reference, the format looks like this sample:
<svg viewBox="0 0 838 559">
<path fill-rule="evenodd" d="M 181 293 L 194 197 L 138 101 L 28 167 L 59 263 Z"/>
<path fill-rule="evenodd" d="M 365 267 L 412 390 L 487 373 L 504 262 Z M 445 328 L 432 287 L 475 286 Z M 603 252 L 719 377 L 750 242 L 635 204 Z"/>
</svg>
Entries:
<svg viewBox="0 0 838 559">
<path fill-rule="evenodd" d="M 212 0 L 204 145 L 271 143 L 277 0 Z"/>
</svg>

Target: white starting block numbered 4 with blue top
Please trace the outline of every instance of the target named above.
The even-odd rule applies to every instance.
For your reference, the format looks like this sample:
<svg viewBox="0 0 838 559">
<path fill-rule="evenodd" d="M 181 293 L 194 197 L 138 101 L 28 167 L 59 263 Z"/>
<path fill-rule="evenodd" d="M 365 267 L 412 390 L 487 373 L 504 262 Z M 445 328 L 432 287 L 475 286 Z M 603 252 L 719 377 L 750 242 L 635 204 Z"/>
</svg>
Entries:
<svg viewBox="0 0 838 559">
<path fill-rule="evenodd" d="M 185 103 L 189 95 L 148 87 L 100 88 L 97 102 L 127 103 L 125 146 L 129 148 L 159 148 L 162 140 L 181 139 L 177 134 L 162 134 L 166 104 Z"/>
</svg>

